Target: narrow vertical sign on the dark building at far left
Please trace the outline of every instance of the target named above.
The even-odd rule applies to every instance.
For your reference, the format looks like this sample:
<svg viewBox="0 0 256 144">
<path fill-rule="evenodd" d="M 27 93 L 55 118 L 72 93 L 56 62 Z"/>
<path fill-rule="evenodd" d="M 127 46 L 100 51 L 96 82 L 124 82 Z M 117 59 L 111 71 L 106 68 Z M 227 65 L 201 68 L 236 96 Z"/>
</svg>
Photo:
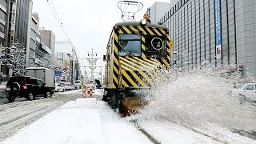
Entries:
<svg viewBox="0 0 256 144">
<path fill-rule="evenodd" d="M 10 43 L 14 43 L 17 2 L 14 0 L 10 19 Z"/>
</svg>

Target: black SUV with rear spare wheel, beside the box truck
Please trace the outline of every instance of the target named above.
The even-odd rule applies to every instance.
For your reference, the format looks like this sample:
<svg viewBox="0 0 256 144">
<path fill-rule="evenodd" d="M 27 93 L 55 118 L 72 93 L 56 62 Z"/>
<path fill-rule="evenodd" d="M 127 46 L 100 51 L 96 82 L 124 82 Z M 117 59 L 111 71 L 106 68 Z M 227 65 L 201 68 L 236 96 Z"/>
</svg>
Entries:
<svg viewBox="0 0 256 144">
<path fill-rule="evenodd" d="M 26 98 L 33 100 L 36 96 L 51 98 L 54 93 L 53 88 L 46 86 L 39 78 L 29 76 L 10 77 L 6 84 L 7 98 L 9 102 L 14 102 L 15 98 Z"/>
</svg>

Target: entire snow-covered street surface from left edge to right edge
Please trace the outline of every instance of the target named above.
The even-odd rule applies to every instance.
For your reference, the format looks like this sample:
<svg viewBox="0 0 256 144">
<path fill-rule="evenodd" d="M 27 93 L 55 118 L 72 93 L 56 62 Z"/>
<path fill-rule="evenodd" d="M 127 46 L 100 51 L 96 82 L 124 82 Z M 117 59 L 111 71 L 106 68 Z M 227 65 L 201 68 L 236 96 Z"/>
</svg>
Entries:
<svg viewBox="0 0 256 144">
<path fill-rule="evenodd" d="M 69 97 L 74 100 L 68 101 Z M 168 121 L 134 122 L 132 118 L 120 118 L 106 102 L 99 100 L 102 90 L 95 90 L 94 97 L 81 98 L 81 91 L 70 91 L 49 99 L 0 106 L 2 138 L 15 133 L 18 129 L 14 127 L 24 126 L 0 143 L 152 143 L 142 132 L 157 143 L 256 143 L 218 126 L 202 130 Z M 38 120 L 34 122 L 35 119 Z"/>
</svg>

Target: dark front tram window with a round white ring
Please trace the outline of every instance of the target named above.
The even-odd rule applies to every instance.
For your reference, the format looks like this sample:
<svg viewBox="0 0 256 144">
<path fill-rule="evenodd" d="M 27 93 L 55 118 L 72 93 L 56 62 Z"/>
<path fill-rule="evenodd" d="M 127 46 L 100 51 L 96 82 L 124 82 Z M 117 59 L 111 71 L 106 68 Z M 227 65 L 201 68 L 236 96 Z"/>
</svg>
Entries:
<svg viewBox="0 0 256 144">
<path fill-rule="evenodd" d="M 154 35 L 146 35 L 146 57 L 166 58 L 166 39 Z"/>
</svg>

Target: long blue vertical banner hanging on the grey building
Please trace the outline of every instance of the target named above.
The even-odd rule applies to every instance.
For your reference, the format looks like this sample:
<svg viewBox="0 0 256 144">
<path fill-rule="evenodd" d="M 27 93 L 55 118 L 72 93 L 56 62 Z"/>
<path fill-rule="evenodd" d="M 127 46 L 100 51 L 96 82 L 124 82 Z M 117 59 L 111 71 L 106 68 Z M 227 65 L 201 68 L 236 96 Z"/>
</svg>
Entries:
<svg viewBox="0 0 256 144">
<path fill-rule="evenodd" d="M 222 19 L 221 19 L 221 3 L 215 0 L 215 39 L 216 39 L 216 58 L 222 58 Z"/>
</svg>

